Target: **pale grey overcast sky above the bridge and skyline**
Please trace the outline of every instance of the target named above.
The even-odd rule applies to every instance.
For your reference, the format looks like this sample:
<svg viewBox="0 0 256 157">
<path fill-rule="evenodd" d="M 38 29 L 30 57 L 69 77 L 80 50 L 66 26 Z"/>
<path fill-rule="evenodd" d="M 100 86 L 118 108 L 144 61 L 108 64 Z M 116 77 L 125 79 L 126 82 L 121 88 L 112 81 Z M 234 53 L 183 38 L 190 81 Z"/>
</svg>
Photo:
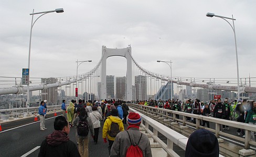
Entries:
<svg viewBox="0 0 256 157">
<path fill-rule="evenodd" d="M 232 17 L 240 77 L 255 77 L 256 1 L 0 1 L 1 75 L 22 76 L 28 66 L 30 13 L 63 8 L 40 17 L 31 43 L 30 77 L 90 71 L 107 48 L 132 47 L 143 68 L 169 75 L 156 60 L 172 60 L 173 76 L 237 77 L 234 34 L 229 24 L 206 13 Z M 38 15 L 34 16 L 36 19 Z M 229 20 L 232 24 L 232 20 Z M 107 75 L 125 76 L 126 59 L 107 60 Z"/>
</svg>

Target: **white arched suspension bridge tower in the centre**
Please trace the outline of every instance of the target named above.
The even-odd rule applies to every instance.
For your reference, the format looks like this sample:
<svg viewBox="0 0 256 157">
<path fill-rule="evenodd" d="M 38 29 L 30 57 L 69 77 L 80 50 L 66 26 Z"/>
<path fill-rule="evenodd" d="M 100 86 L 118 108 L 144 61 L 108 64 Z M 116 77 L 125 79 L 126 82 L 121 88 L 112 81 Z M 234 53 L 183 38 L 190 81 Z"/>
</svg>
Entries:
<svg viewBox="0 0 256 157">
<path fill-rule="evenodd" d="M 101 99 L 106 99 L 106 59 L 113 56 L 120 56 L 126 58 L 127 61 L 127 75 L 126 75 L 126 100 L 132 100 L 132 48 L 124 49 L 109 49 L 102 46 L 102 60 L 101 60 Z"/>
</svg>

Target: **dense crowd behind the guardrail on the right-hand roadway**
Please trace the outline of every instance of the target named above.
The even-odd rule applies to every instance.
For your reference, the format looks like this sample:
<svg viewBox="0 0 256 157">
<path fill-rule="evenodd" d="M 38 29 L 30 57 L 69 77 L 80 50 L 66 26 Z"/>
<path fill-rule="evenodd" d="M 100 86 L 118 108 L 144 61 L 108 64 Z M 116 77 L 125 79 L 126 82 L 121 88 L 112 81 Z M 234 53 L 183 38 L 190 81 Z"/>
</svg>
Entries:
<svg viewBox="0 0 256 157">
<path fill-rule="evenodd" d="M 184 102 L 178 99 L 168 99 L 163 101 L 159 100 L 137 100 L 131 103 L 140 104 L 145 106 L 152 106 L 158 108 L 165 108 L 175 111 L 183 111 L 189 114 L 196 114 L 202 116 L 215 117 L 226 120 L 236 120 L 238 122 L 246 122 L 247 124 L 256 124 L 256 102 L 254 100 L 234 100 L 233 105 L 228 98 L 225 98 L 223 102 L 221 99 L 212 99 L 208 102 L 200 101 L 199 99 L 188 99 Z M 176 114 L 176 118 L 179 118 Z M 196 119 L 186 117 L 187 121 L 196 123 Z M 210 128 L 209 121 L 202 120 L 200 125 L 205 127 L 205 124 Z M 230 130 L 229 126 L 222 125 L 222 130 Z M 244 130 L 237 128 L 237 135 L 245 137 Z M 251 139 L 255 141 L 254 132 L 251 132 Z"/>
</svg>

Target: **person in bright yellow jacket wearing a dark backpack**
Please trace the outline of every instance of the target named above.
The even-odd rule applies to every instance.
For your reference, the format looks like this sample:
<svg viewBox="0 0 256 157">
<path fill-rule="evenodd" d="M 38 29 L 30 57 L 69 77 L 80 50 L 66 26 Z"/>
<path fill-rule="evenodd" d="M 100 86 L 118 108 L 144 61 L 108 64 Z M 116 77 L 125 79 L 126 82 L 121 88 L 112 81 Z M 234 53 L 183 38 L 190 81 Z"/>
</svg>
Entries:
<svg viewBox="0 0 256 157">
<path fill-rule="evenodd" d="M 109 156 L 110 156 L 110 151 L 111 151 L 111 148 L 112 148 L 112 145 L 114 143 L 115 136 L 116 136 L 116 134 L 113 133 L 113 132 L 116 132 L 116 131 L 114 131 L 113 129 L 111 130 L 112 122 L 115 122 L 116 124 L 119 125 L 119 132 L 124 131 L 124 126 L 123 126 L 122 119 L 120 119 L 118 117 L 118 109 L 113 108 L 111 110 L 111 114 L 110 114 L 109 117 L 106 118 L 106 120 L 104 122 L 103 129 L 102 129 L 102 138 L 104 140 L 104 143 L 107 142 L 106 138 L 108 138 L 108 141 L 109 141 Z M 114 126 L 114 125 L 112 125 L 112 126 Z M 113 134 L 115 136 L 113 136 Z"/>
</svg>

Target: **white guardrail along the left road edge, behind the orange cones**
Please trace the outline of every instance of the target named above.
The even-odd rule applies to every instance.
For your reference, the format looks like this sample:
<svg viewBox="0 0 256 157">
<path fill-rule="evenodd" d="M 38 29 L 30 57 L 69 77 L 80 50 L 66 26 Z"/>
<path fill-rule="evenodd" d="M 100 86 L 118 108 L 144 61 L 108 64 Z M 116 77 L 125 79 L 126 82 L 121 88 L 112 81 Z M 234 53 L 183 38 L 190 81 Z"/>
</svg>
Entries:
<svg viewBox="0 0 256 157">
<path fill-rule="evenodd" d="M 30 114 L 37 114 L 38 107 L 12 108 L 0 109 L 0 121 L 4 119 L 22 118 L 23 116 L 31 116 Z M 47 106 L 47 112 L 61 109 L 61 105 Z M 21 116 L 21 117 L 20 117 Z M 4 119 L 3 119 L 4 118 Z"/>
</svg>

